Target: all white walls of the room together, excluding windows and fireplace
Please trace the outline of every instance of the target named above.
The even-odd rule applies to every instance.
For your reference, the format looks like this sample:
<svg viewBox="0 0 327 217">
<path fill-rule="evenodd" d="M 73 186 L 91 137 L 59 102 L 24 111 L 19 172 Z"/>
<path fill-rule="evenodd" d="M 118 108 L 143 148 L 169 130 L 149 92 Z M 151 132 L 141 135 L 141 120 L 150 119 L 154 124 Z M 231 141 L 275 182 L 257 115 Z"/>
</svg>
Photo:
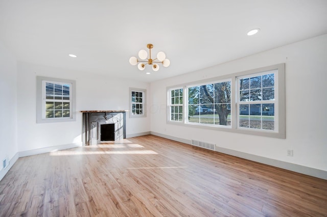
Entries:
<svg viewBox="0 0 327 217">
<path fill-rule="evenodd" d="M 151 130 L 171 138 L 211 142 L 218 148 L 327 171 L 326 60 L 327 35 L 323 35 L 149 85 L 21 62 L 17 67 L 15 57 L 0 42 L 0 159 L 13 159 L 17 152 L 80 143 L 79 111 L 128 110 L 132 87 L 147 90 L 148 116 L 130 119 L 127 114 L 127 136 Z M 286 139 L 167 124 L 167 86 L 278 63 L 286 63 Z M 37 75 L 76 80 L 75 122 L 36 124 Z M 293 157 L 286 156 L 287 149 L 294 150 Z M 3 173 L 0 171 L 0 179 Z"/>
</svg>

